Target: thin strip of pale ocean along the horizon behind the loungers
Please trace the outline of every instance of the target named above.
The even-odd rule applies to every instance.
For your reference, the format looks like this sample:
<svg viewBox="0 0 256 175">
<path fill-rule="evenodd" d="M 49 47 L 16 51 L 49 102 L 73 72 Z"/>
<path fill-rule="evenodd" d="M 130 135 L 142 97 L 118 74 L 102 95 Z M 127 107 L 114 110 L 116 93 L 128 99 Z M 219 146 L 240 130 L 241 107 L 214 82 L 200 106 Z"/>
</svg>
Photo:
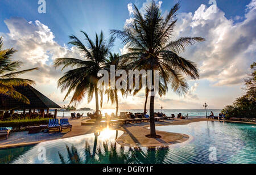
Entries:
<svg viewBox="0 0 256 175">
<path fill-rule="evenodd" d="M 57 112 L 57 117 L 71 117 L 71 113 L 84 113 L 84 117 L 87 116 L 87 113 L 93 113 L 94 110 L 74 110 L 72 112 Z M 221 113 L 221 109 L 207 109 L 207 116 L 210 115 L 210 112 L 213 112 L 214 116 L 218 116 L 219 113 Z M 132 112 L 132 113 L 142 113 L 143 109 L 120 109 L 118 110 L 118 114 L 120 112 Z M 155 109 L 155 112 L 162 112 L 161 109 Z M 109 115 L 111 113 L 115 113 L 115 109 L 101 109 L 101 113 L 103 116 L 105 116 L 105 113 L 108 113 Z M 148 110 L 149 113 L 149 110 Z M 186 116 L 188 114 L 188 117 L 205 117 L 205 109 L 163 109 L 163 113 L 166 114 L 166 116 L 171 116 L 171 114 L 177 114 L 181 113 L 183 116 Z"/>
</svg>

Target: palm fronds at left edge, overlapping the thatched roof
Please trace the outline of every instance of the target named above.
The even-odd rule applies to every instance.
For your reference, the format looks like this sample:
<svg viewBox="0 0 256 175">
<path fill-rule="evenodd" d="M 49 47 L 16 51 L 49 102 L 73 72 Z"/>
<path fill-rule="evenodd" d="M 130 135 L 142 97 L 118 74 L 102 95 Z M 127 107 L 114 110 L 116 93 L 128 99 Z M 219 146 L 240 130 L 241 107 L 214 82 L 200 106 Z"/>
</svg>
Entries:
<svg viewBox="0 0 256 175">
<path fill-rule="evenodd" d="M 32 70 L 38 70 L 38 68 L 17 71 L 23 63 L 11 59 L 16 52 L 17 50 L 14 50 L 14 48 L 4 50 L 3 40 L 0 37 L 0 94 L 19 100 L 22 103 L 30 104 L 27 97 L 15 91 L 14 87 L 35 84 L 33 80 L 18 78 L 18 76 Z M 0 104 L 2 103 L 3 101 L 0 101 Z"/>
</svg>

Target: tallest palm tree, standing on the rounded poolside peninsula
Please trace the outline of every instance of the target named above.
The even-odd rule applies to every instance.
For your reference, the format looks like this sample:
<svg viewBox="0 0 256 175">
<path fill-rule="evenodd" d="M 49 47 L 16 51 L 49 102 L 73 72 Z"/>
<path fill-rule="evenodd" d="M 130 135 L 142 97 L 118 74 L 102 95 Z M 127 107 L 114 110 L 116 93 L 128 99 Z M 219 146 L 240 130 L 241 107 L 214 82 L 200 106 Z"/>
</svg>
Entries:
<svg viewBox="0 0 256 175">
<path fill-rule="evenodd" d="M 199 72 L 195 63 L 180 57 L 179 54 L 185 50 L 186 46 L 204 39 L 180 37 L 172 40 L 172 32 L 177 22 L 176 12 L 179 7 L 177 3 L 164 18 L 154 1 L 146 7 L 144 15 L 134 6 L 133 20 L 126 24 L 122 31 L 113 29 L 112 33 L 117 35 L 129 50 L 129 53 L 121 56 L 122 63 L 134 69 L 159 71 L 159 81 L 164 86 L 167 87 L 167 84 L 170 84 L 174 92 L 184 95 L 188 91 L 184 75 L 197 79 Z M 155 138 L 153 92 L 154 88 L 151 89 L 150 96 L 150 136 Z"/>
</svg>

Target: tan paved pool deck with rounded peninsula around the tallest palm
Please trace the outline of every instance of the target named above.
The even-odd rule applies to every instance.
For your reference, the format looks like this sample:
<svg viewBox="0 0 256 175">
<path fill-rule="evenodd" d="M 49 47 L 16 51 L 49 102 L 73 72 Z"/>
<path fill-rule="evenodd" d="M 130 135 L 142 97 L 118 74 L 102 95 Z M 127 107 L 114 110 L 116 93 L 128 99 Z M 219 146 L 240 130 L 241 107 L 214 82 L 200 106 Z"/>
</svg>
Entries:
<svg viewBox="0 0 256 175">
<path fill-rule="evenodd" d="M 58 117 L 62 118 L 62 117 Z M 16 148 L 23 146 L 32 146 L 38 143 L 47 142 L 51 140 L 59 140 L 64 138 L 71 138 L 73 136 L 80 136 L 85 134 L 91 134 L 96 131 L 101 131 L 95 126 L 82 126 L 81 122 L 87 120 L 86 118 L 80 119 L 69 119 L 69 122 L 73 125 L 72 131 L 69 129 L 64 129 L 61 133 L 37 133 L 28 134 L 28 131 L 11 133 L 9 139 L 0 140 L 0 150 L 6 148 Z M 200 121 L 218 121 L 214 119 L 207 118 L 188 118 L 188 119 L 177 119 L 175 120 L 164 120 L 164 122 L 155 122 L 155 126 L 171 126 L 171 125 L 187 125 L 192 122 Z M 239 121 L 226 121 L 226 122 L 238 122 L 238 123 L 249 123 L 250 122 L 239 122 Z M 161 135 L 160 139 L 146 138 L 146 134 L 150 134 L 150 130 L 147 127 L 150 126 L 149 122 L 134 123 L 131 125 L 122 125 L 118 129 L 110 127 L 112 130 L 121 130 L 124 133 L 119 136 L 115 142 L 121 144 L 122 146 L 128 147 L 166 147 L 177 143 L 182 143 L 187 141 L 191 136 L 179 133 L 168 133 L 164 131 L 157 131 L 156 134 Z"/>
</svg>

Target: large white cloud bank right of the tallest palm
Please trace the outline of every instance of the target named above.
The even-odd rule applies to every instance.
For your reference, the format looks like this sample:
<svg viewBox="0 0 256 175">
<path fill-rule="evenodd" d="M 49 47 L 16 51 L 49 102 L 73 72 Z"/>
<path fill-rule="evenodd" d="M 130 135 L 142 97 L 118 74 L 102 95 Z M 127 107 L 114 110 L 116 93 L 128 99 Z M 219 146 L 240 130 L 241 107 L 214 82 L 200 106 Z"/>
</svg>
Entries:
<svg viewBox="0 0 256 175">
<path fill-rule="evenodd" d="M 143 3 L 142 13 L 150 2 Z M 156 3 L 162 5 L 162 1 Z M 212 86 L 242 84 L 250 64 L 256 61 L 256 0 L 246 6 L 245 16 L 236 16 L 235 20 L 240 20 L 237 23 L 227 19 L 218 7 L 215 11 L 214 6 L 202 4 L 194 13 L 179 13 L 172 40 L 181 36 L 204 37 L 206 41 L 188 47 L 181 56 L 196 62 L 200 78 Z M 120 50 L 127 53 L 126 46 Z"/>
</svg>

